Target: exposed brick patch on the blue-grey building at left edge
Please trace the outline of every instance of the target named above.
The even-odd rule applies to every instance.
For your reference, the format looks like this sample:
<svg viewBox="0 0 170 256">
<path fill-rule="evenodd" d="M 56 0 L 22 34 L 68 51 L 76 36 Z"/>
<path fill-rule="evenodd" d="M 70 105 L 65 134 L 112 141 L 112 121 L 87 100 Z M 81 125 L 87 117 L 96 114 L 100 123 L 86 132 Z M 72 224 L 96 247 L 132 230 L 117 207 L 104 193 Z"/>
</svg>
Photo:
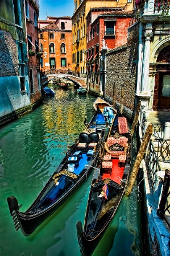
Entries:
<svg viewBox="0 0 170 256">
<path fill-rule="evenodd" d="M 18 76 L 16 42 L 9 32 L 0 30 L 0 76 Z"/>
</svg>

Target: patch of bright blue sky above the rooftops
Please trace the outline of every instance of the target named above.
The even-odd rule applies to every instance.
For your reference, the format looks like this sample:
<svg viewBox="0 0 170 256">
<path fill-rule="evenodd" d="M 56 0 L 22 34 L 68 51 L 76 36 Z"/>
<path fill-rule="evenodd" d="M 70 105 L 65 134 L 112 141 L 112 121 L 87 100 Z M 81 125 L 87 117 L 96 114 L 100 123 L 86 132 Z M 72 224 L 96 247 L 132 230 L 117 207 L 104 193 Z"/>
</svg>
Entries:
<svg viewBox="0 0 170 256">
<path fill-rule="evenodd" d="M 39 0 L 39 19 L 47 20 L 47 16 L 72 16 L 74 13 L 74 0 Z"/>
</svg>

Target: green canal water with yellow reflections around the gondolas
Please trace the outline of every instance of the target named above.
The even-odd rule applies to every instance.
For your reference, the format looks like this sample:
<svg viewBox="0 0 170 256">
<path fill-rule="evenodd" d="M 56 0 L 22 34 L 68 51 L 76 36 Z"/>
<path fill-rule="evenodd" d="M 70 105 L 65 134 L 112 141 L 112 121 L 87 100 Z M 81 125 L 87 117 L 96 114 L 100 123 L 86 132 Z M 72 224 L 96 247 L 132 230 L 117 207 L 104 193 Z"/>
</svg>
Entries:
<svg viewBox="0 0 170 256">
<path fill-rule="evenodd" d="M 74 88 L 55 92 L 55 97 L 44 100 L 34 112 L 0 128 L 1 256 L 80 256 L 76 223 L 84 222 L 93 174 L 29 237 L 15 231 L 6 200 L 15 196 L 22 204 L 20 210 L 27 210 L 68 146 L 84 130 L 84 118 L 90 121 L 94 114 L 96 97 L 77 95 Z M 133 146 L 135 152 L 135 140 Z M 135 185 L 131 195 L 123 197 L 93 256 L 142 255 L 141 251 L 140 200 Z"/>
</svg>

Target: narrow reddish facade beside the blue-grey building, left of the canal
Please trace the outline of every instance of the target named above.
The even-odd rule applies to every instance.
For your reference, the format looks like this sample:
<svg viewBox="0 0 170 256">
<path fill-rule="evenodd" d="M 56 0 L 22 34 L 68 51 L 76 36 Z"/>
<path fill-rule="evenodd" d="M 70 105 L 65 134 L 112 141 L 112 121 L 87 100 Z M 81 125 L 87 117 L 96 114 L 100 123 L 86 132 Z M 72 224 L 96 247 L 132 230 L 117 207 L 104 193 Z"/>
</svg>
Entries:
<svg viewBox="0 0 170 256">
<path fill-rule="evenodd" d="M 39 5 L 36 1 L 25 1 L 27 46 L 28 46 L 28 76 L 30 84 L 30 100 L 34 104 L 41 96 L 38 15 Z"/>
</svg>

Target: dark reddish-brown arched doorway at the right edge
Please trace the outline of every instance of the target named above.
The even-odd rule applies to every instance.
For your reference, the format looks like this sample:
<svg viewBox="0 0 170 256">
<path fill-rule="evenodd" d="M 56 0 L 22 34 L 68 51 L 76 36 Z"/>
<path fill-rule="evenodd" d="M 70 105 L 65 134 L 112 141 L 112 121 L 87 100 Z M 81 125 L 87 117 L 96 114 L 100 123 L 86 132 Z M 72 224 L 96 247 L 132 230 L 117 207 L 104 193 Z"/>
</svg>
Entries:
<svg viewBox="0 0 170 256">
<path fill-rule="evenodd" d="M 157 55 L 153 110 L 157 109 L 170 109 L 170 46 Z"/>
</svg>

